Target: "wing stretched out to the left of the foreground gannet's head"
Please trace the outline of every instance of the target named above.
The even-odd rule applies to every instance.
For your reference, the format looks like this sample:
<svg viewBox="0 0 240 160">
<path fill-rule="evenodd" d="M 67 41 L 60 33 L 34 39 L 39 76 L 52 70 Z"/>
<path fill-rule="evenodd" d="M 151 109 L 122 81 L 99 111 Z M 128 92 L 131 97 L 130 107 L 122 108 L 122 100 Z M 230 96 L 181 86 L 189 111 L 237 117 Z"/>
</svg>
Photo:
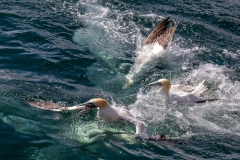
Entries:
<svg viewBox="0 0 240 160">
<path fill-rule="evenodd" d="M 80 109 L 82 109 L 83 111 L 87 111 L 89 109 L 82 105 L 66 107 L 63 105 L 59 105 L 57 103 L 47 102 L 43 100 L 35 100 L 35 99 L 28 99 L 26 100 L 26 103 L 28 103 L 30 106 L 43 109 L 43 110 L 50 110 L 50 111 L 68 111 L 68 110 L 80 110 Z"/>
</svg>

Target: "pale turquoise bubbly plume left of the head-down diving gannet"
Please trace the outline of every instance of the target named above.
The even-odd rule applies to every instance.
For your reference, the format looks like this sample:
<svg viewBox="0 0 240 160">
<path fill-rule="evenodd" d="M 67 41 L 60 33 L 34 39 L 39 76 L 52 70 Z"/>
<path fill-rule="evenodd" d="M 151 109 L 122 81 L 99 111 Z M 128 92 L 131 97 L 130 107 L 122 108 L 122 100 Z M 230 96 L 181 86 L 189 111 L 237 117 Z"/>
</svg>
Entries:
<svg viewBox="0 0 240 160">
<path fill-rule="evenodd" d="M 138 28 L 124 21 L 124 13 L 94 2 L 79 4 L 78 14 L 84 27 L 74 33 L 74 42 L 87 48 L 96 62 L 87 68 L 88 79 L 105 91 L 120 91 L 125 83 L 124 72 L 131 60 L 126 58 L 135 44 Z M 114 18 L 112 18 L 114 17 Z M 116 85 L 117 84 L 117 85 Z"/>
</svg>

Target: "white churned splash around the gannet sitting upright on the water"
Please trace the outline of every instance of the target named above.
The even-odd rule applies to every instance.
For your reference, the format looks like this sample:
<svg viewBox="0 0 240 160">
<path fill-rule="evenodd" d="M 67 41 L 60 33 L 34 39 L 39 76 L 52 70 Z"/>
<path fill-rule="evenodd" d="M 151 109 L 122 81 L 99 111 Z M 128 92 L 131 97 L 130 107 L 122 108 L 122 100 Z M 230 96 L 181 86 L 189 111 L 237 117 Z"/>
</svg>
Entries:
<svg viewBox="0 0 240 160">
<path fill-rule="evenodd" d="M 155 88 L 141 88 L 137 100 L 129 106 L 132 114 L 141 117 L 162 134 L 188 137 L 199 130 L 240 135 L 238 117 L 239 82 L 228 77 L 231 70 L 214 64 L 200 64 L 198 68 L 172 79 L 173 84 L 190 81 L 194 86 L 206 80 L 206 98 L 219 98 L 205 104 L 177 104 L 168 102 Z M 171 122 L 171 123 L 170 123 Z"/>
</svg>

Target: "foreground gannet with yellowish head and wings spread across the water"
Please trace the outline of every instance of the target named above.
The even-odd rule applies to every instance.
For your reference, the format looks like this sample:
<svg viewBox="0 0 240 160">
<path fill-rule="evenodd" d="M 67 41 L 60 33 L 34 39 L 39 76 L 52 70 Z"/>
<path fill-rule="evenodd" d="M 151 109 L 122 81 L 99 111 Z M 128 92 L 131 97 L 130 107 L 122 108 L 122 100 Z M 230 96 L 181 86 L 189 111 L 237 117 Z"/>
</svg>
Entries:
<svg viewBox="0 0 240 160">
<path fill-rule="evenodd" d="M 66 110 L 81 110 L 80 113 L 88 112 L 91 109 L 98 108 L 98 117 L 107 122 L 116 122 L 126 120 L 136 126 L 136 136 L 144 139 L 149 139 L 148 126 L 134 118 L 134 116 L 126 109 L 110 106 L 109 103 L 102 98 L 94 98 L 86 103 L 82 103 L 72 107 L 61 106 L 56 103 L 46 101 L 27 100 L 27 103 L 33 107 L 51 110 L 51 111 L 66 111 Z"/>
</svg>

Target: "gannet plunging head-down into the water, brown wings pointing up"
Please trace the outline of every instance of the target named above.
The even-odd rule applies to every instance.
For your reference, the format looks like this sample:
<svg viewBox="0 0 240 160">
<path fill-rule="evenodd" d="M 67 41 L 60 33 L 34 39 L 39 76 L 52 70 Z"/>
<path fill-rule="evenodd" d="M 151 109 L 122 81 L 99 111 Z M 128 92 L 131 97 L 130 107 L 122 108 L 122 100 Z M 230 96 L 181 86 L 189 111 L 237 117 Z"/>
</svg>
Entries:
<svg viewBox="0 0 240 160">
<path fill-rule="evenodd" d="M 134 65 L 131 67 L 129 73 L 126 75 L 127 83 L 123 88 L 132 85 L 139 80 L 145 72 L 155 67 L 159 58 L 164 55 L 169 42 L 172 40 L 174 32 L 178 26 L 168 27 L 170 18 L 164 19 L 157 27 L 149 34 L 144 46 L 136 54 Z"/>
</svg>

